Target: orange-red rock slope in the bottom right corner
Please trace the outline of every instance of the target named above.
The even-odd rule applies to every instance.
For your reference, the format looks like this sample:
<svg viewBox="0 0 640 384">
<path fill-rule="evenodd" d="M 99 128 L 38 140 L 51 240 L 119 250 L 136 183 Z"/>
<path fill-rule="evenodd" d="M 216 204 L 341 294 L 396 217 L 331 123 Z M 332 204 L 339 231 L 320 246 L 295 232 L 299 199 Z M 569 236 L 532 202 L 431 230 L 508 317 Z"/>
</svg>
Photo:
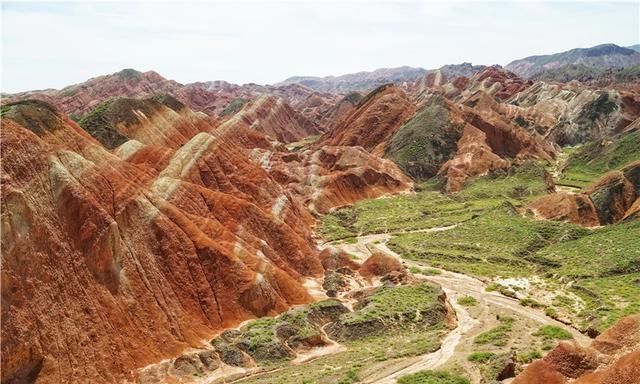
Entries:
<svg viewBox="0 0 640 384">
<path fill-rule="evenodd" d="M 640 383 L 640 316 L 621 319 L 588 348 L 562 342 L 541 360 L 528 365 L 514 384 Z"/>
</svg>

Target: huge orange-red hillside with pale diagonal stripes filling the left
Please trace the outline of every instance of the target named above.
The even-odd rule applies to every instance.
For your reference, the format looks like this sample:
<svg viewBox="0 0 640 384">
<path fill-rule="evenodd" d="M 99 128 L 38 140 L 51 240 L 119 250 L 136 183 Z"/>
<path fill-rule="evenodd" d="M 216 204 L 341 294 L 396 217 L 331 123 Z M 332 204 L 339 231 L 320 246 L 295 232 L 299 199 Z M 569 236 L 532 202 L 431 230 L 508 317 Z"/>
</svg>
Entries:
<svg viewBox="0 0 640 384">
<path fill-rule="evenodd" d="M 237 136 L 174 113 L 116 124 L 128 141 L 109 152 L 51 106 L 9 106 L 3 382 L 118 381 L 310 300 L 311 217 Z"/>
</svg>

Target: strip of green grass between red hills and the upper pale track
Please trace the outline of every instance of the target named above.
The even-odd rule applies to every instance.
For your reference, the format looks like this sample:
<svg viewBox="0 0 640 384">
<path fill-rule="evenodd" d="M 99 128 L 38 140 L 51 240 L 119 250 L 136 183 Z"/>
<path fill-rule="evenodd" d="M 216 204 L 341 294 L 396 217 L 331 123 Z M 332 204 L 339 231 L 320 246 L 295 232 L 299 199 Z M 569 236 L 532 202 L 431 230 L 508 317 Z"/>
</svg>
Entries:
<svg viewBox="0 0 640 384">
<path fill-rule="evenodd" d="M 471 179 L 456 195 L 437 191 L 432 181 L 416 186 L 415 194 L 361 201 L 323 218 L 320 233 L 327 240 L 358 234 L 424 230 L 472 220 L 509 201 L 522 205 L 546 193 L 544 170 L 526 163 L 510 172 L 498 171 Z"/>
</svg>

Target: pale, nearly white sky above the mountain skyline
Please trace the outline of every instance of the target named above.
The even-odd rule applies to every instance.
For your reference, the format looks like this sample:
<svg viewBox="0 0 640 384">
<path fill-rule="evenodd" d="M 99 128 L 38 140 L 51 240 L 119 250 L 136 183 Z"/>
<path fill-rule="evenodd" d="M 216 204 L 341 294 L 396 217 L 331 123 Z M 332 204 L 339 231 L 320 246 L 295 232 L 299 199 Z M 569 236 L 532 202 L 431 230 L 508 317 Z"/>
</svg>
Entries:
<svg viewBox="0 0 640 384">
<path fill-rule="evenodd" d="M 507 64 L 640 42 L 640 2 L 2 1 L 2 91 L 123 68 L 182 83 L 275 83 L 380 67 Z"/>
</svg>

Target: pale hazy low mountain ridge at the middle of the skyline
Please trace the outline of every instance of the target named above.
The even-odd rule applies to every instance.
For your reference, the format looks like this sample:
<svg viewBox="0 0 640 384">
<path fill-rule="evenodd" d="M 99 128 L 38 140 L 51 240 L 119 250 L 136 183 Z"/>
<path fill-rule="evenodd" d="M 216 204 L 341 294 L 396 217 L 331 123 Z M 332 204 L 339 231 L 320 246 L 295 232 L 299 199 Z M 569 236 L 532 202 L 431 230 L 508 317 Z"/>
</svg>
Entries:
<svg viewBox="0 0 640 384">
<path fill-rule="evenodd" d="M 372 72 L 357 72 L 342 76 L 294 76 L 276 86 L 300 84 L 320 92 L 346 93 L 368 91 L 387 83 L 399 84 L 415 81 L 427 72 L 424 68 L 398 67 L 380 68 Z"/>
</svg>

